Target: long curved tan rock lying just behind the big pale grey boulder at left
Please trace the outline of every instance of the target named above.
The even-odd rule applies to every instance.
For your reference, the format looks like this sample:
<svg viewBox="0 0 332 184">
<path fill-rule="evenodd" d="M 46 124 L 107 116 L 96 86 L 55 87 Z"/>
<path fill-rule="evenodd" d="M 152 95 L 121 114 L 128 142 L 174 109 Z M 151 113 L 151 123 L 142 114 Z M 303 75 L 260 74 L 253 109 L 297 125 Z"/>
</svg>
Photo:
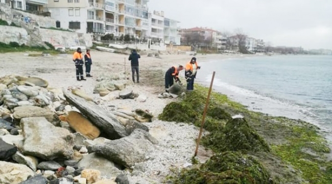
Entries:
<svg viewBox="0 0 332 184">
<path fill-rule="evenodd" d="M 46 118 L 46 120 L 48 120 L 54 125 L 58 125 L 59 123 L 59 119 L 54 112 L 38 106 L 15 107 L 13 117 L 16 120 L 21 120 L 23 118 L 32 118 L 32 117 L 44 117 Z"/>
</svg>

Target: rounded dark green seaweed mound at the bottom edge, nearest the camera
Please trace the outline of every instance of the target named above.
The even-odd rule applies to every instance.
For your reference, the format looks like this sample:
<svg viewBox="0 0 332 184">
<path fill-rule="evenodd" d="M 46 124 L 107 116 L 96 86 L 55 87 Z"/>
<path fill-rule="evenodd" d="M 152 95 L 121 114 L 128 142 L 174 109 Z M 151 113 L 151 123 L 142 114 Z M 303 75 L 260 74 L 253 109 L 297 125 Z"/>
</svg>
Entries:
<svg viewBox="0 0 332 184">
<path fill-rule="evenodd" d="M 264 166 L 251 156 L 223 152 L 212 156 L 200 168 L 182 170 L 174 184 L 275 183 Z"/>
</svg>

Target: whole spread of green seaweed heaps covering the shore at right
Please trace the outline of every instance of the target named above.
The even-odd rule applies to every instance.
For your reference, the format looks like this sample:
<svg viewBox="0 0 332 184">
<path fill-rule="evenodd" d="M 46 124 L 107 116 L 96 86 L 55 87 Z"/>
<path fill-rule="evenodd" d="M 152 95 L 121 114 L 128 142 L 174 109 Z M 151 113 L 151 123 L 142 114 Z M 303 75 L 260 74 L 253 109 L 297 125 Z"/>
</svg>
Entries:
<svg viewBox="0 0 332 184">
<path fill-rule="evenodd" d="M 168 104 L 159 119 L 200 126 L 207 89 L 196 86 Z M 245 118 L 232 118 L 236 114 Z M 319 129 L 301 120 L 247 110 L 225 95 L 212 93 L 201 144 L 214 151 L 205 164 L 170 176 L 176 184 L 329 183 L 332 162 Z M 309 150 L 309 151 L 308 151 Z"/>
</svg>

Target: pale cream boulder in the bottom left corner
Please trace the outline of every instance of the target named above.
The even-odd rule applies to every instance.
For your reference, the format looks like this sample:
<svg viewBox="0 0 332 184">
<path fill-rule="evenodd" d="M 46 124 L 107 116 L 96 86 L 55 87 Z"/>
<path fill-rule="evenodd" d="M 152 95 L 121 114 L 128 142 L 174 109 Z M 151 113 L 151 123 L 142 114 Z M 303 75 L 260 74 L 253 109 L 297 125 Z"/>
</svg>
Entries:
<svg viewBox="0 0 332 184">
<path fill-rule="evenodd" d="M 0 161 L 0 183 L 19 184 L 34 175 L 28 166 Z"/>
</svg>

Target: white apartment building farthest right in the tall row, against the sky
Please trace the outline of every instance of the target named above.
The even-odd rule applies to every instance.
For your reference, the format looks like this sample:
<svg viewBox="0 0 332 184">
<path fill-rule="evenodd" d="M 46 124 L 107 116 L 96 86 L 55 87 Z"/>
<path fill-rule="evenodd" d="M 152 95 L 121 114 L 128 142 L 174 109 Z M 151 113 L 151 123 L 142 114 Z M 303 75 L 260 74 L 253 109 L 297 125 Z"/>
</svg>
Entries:
<svg viewBox="0 0 332 184">
<path fill-rule="evenodd" d="M 179 21 L 164 18 L 164 42 L 165 44 L 174 44 L 174 45 L 180 45 L 181 44 L 181 35 L 178 31 L 178 23 Z"/>
</svg>

